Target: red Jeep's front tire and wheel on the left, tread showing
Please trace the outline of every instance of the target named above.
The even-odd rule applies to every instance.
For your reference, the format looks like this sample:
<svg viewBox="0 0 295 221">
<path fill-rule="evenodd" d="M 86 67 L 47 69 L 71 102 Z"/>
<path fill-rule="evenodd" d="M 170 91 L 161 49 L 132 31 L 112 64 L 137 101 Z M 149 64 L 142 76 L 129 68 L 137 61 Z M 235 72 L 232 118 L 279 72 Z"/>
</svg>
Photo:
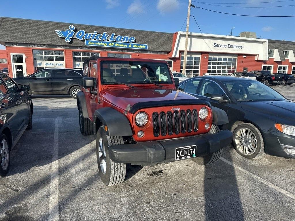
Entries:
<svg viewBox="0 0 295 221">
<path fill-rule="evenodd" d="M 126 164 L 117 164 L 109 157 L 110 145 L 124 144 L 121 136 L 108 136 L 101 126 L 96 134 L 96 158 L 101 181 L 106 186 L 114 186 L 124 182 Z"/>
</svg>

